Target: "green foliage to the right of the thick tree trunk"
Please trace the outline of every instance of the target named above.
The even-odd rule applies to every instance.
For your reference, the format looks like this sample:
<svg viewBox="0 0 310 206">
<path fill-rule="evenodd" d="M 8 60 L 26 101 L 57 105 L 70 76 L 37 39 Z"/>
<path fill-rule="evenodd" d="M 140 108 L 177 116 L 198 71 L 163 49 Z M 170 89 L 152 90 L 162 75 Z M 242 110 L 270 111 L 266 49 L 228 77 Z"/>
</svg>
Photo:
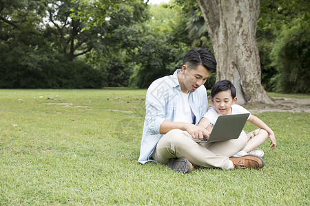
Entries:
<svg viewBox="0 0 310 206">
<path fill-rule="evenodd" d="M 260 18 L 258 19 L 258 27 L 256 32 L 256 41 L 258 43 L 258 49 L 260 51 L 260 65 L 262 68 L 262 85 L 267 91 L 285 91 L 285 92 L 301 92 L 300 89 L 285 89 L 285 85 L 291 85 L 292 82 L 287 74 L 282 74 L 284 72 L 282 62 L 280 57 L 275 55 L 282 55 L 278 51 L 280 44 L 285 44 L 285 33 L 290 30 L 291 27 L 295 27 L 298 19 L 304 19 L 309 24 L 308 12 L 310 9 L 309 1 L 301 0 L 278 0 L 278 1 L 265 1 L 260 0 Z M 306 24 L 307 24 L 306 23 Z M 298 29 L 298 31 L 300 28 Z M 291 31 L 293 32 L 293 31 Z M 300 33 L 300 32 L 297 32 Z M 293 38 L 296 38 L 293 41 L 298 42 L 300 37 L 297 37 L 298 34 L 292 35 Z M 295 44 L 296 48 L 291 49 L 293 51 L 302 49 Z M 284 48 L 284 47 L 283 47 Z M 307 50 L 307 46 L 303 48 Z M 273 54 L 271 54 L 273 51 Z M 300 55 L 291 56 L 293 59 L 290 62 L 300 62 L 301 64 L 307 64 L 302 62 L 305 60 Z M 279 59 L 279 60 L 276 60 Z M 293 65 L 291 65 L 293 67 Z M 299 66 L 296 65 L 296 68 L 290 68 L 290 70 L 296 71 Z M 298 78 L 303 78 L 302 72 L 294 72 L 295 75 L 299 75 Z M 282 77 L 282 78 L 280 78 Z M 281 80 L 280 80 L 281 79 Z M 300 83 L 298 83 L 300 84 Z M 280 86 L 282 85 L 282 86 Z M 282 88 L 281 88 L 282 87 Z M 293 88 L 293 87 L 291 87 Z M 304 90 L 303 90 L 304 92 Z"/>
</svg>

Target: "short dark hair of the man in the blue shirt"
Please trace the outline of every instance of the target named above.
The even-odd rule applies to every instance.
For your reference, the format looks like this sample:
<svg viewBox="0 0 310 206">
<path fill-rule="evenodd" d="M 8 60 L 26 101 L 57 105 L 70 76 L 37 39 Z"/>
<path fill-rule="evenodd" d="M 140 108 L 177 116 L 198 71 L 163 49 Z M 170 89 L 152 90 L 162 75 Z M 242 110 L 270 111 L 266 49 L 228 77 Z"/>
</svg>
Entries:
<svg viewBox="0 0 310 206">
<path fill-rule="evenodd" d="M 216 59 L 213 54 L 205 48 L 191 49 L 183 57 L 183 65 L 188 65 L 189 69 L 194 69 L 198 65 L 203 65 L 211 72 L 216 72 Z"/>
</svg>

